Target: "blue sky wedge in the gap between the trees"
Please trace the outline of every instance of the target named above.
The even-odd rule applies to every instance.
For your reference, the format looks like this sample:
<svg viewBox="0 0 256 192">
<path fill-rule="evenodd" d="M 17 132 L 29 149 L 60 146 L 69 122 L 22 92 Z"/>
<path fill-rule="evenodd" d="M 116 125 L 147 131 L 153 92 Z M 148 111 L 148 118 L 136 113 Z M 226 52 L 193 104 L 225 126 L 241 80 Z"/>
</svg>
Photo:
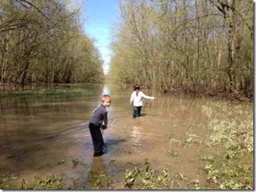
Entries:
<svg viewBox="0 0 256 192">
<path fill-rule="evenodd" d="M 119 0 L 85 0 L 83 3 L 84 15 L 87 21 L 84 30 L 95 39 L 95 47 L 99 50 L 104 60 L 103 69 L 105 74 L 109 71 L 111 42 L 111 26 L 119 17 Z"/>
</svg>

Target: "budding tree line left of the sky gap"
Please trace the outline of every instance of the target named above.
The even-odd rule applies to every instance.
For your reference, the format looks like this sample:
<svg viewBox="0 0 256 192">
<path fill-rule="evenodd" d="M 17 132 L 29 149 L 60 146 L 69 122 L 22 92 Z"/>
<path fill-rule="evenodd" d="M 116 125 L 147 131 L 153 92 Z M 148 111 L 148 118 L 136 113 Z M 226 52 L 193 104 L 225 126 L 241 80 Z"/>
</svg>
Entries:
<svg viewBox="0 0 256 192">
<path fill-rule="evenodd" d="M 103 80 L 103 60 L 75 1 L 0 1 L 0 84 Z"/>
</svg>

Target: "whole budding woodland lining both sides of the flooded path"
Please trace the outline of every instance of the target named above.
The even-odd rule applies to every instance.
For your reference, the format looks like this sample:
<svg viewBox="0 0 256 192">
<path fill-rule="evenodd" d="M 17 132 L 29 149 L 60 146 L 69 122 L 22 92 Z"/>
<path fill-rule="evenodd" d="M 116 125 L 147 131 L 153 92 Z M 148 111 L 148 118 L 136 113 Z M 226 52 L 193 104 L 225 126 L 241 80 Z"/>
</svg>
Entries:
<svg viewBox="0 0 256 192">
<path fill-rule="evenodd" d="M 0 1 L 1 86 L 108 79 L 253 99 L 253 1 L 120 1 L 107 75 L 75 2 Z"/>
</svg>

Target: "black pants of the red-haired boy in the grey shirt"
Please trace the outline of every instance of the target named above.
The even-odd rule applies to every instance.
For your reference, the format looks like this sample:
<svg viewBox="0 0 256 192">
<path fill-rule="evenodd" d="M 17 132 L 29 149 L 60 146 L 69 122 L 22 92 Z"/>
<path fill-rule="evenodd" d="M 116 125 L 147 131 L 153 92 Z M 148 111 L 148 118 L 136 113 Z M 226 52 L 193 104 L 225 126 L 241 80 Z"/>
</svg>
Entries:
<svg viewBox="0 0 256 192">
<path fill-rule="evenodd" d="M 103 137 L 101 134 L 100 126 L 89 124 L 91 138 L 93 139 L 94 157 L 103 155 Z"/>
</svg>

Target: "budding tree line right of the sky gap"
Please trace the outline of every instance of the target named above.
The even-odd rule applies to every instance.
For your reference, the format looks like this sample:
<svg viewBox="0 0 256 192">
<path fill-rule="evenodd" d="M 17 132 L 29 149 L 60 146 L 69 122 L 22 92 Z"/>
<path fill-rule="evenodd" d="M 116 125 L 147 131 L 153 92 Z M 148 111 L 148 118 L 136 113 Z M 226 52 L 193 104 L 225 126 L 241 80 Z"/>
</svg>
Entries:
<svg viewBox="0 0 256 192">
<path fill-rule="evenodd" d="M 253 96 L 253 1 L 129 0 L 119 10 L 113 80 Z"/>
</svg>

